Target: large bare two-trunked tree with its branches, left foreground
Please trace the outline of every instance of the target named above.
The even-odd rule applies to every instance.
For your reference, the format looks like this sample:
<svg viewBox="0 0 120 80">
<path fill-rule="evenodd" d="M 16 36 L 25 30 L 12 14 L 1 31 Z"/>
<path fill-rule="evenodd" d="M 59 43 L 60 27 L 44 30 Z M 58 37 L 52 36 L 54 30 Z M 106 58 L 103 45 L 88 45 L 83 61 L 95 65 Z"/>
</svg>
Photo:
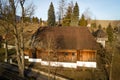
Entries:
<svg viewBox="0 0 120 80">
<path fill-rule="evenodd" d="M 2 0 L 3 1 L 3 0 Z M 31 11 L 30 8 L 24 7 L 24 3 L 26 0 L 9 0 L 5 4 L 5 6 L 8 6 L 8 14 L 3 13 L 4 10 L 6 10 L 5 6 L 2 6 L 0 9 L 2 20 L 4 20 L 6 23 L 9 23 L 11 28 L 12 28 L 12 34 L 15 39 L 15 46 L 16 46 L 16 54 L 17 54 L 17 63 L 18 63 L 18 68 L 19 68 L 19 74 L 20 76 L 24 77 L 24 38 L 23 38 L 23 27 L 24 27 L 24 17 L 25 15 L 31 15 L 33 11 Z M 4 2 L 4 1 L 3 1 Z M 19 28 L 18 26 L 18 20 L 16 18 L 17 16 L 17 7 L 21 7 L 21 12 L 22 12 L 22 19 L 20 22 L 21 27 Z M 33 10 L 33 8 L 32 8 Z M 8 29 L 8 28 L 7 28 Z"/>
</svg>

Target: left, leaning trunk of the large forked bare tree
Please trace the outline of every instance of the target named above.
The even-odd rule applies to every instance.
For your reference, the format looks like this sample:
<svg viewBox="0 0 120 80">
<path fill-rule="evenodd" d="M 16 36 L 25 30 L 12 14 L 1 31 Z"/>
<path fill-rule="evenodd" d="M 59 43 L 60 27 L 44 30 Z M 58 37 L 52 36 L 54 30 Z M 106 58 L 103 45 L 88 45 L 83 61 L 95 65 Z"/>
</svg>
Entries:
<svg viewBox="0 0 120 80">
<path fill-rule="evenodd" d="M 17 2 L 18 3 L 18 2 Z M 19 32 L 17 27 L 17 20 L 16 20 L 16 3 L 15 0 L 9 0 L 10 8 L 11 8 L 11 16 L 12 16 L 12 22 L 11 25 L 14 29 L 14 38 L 15 38 L 15 46 L 16 46 L 16 53 L 17 53 L 17 62 L 18 62 L 18 68 L 19 68 L 19 74 L 20 76 L 24 77 L 24 67 L 23 67 L 23 58 L 21 58 L 21 50 L 20 50 L 20 39 L 19 39 Z M 24 56 L 23 56 L 24 57 Z"/>
</svg>

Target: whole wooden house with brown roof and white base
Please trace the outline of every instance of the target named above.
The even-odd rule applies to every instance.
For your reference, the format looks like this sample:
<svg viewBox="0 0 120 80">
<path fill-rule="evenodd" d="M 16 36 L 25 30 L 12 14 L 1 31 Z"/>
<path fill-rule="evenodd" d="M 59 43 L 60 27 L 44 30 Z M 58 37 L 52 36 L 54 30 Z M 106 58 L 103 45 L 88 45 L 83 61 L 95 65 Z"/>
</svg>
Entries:
<svg viewBox="0 0 120 80">
<path fill-rule="evenodd" d="M 99 45 L 87 27 L 41 27 L 32 36 L 25 58 L 41 65 L 96 68 Z M 50 58 L 50 59 L 49 59 Z"/>
</svg>

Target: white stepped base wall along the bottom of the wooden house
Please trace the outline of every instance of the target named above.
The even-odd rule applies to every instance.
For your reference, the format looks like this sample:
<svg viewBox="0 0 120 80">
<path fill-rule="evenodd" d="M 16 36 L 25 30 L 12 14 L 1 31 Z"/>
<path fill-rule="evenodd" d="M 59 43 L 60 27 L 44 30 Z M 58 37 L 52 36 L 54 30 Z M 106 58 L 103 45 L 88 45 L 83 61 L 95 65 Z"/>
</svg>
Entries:
<svg viewBox="0 0 120 80">
<path fill-rule="evenodd" d="M 50 65 L 54 67 L 66 67 L 66 68 L 77 68 L 77 67 L 89 67 L 96 68 L 96 62 L 86 62 L 86 61 L 76 61 L 72 62 L 55 62 L 55 61 L 42 61 L 42 59 L 33 59 L 25 56 L 25 59 L 28 59 L 29 62 L 39 62 L 41 65 Z"/>
</svg>

